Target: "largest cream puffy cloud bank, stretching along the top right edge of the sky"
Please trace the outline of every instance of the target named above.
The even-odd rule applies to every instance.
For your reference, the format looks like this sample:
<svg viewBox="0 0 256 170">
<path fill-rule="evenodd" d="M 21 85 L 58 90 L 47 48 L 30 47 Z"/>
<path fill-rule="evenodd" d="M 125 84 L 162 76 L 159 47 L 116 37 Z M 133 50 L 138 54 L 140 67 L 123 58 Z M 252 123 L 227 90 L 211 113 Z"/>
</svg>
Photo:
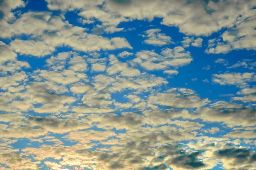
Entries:
<svg viewBox="0 0 256 170">
<path fill-rule="evenodd" d="M 236 22 L 239 14 L 241 20 L 252 15 L 250 5 L 254 2 L 234 3 L 233 1 L 205 2 L 196 1 L 187 3 L 186 0 L 161 1 L 129 1 L 129 3 L 116 3 L 108 0 L 105 10 L 120 14 L 131 19 L 163 18 L 162 24 L 177 26 L 180 32 L 194 35 L 209 35 L 221 28 L 230 28 Z M 227 11 L 227 7 L 229 10 Z M 199 12 L 198 12 L 199 11 Z M 225 17 L 224 17 L 225 16 Z"/>
</svg>

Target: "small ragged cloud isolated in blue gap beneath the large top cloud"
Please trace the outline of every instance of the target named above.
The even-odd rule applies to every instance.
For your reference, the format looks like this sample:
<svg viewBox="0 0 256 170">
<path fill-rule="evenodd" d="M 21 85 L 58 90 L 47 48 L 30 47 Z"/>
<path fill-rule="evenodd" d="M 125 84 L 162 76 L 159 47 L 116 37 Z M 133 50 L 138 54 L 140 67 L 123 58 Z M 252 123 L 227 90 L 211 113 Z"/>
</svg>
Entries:
<svg viewBox="0 0 256 170">
<path fill-rule="evenodd" d="M 155 45 L 155 46 L 163 46 L 168 45 L 172 42 L 172 38 L 169 36 L 166 36 L 166 34 L 160 34 L 160 29 L 150 29 L 147 31 L 144 31 L 145 34 L 142 35 L 142 37 L 147 38 L 143 42 L 145 44 L 149 45 Z"/>
</svg>

